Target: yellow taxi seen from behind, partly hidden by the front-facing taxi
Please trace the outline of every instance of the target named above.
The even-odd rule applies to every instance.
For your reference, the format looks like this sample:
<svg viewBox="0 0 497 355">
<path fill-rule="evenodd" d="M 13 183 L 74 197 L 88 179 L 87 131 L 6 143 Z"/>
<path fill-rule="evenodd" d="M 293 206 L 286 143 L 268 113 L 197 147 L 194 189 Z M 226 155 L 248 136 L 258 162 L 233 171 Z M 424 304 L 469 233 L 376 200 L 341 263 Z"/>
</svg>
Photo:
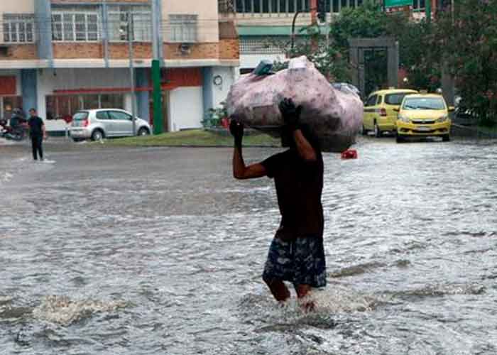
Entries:
<svg viewBox="0 0 497 355">
<path fill-rule="evenodd" d="M 383 132 L 395 132 L 397 112 L 400 103 L 406 95 L 417 94 L 411 89 L 383 89 L 372 92 L 364 104 L 364 136 L 373 131 L 376 137 L 381 137 Z"/>
</svg>

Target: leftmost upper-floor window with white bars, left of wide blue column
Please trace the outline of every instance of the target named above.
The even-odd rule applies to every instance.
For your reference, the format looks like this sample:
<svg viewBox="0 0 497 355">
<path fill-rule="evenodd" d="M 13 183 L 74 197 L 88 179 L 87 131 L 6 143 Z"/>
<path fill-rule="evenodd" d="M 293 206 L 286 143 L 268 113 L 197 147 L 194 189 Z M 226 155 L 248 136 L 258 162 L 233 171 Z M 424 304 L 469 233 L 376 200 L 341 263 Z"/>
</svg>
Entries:
<svg viewBox="0 0 497 355">
<path fill-rule="evenodd" d="M 33 43 L 35 16 L 33 13 L 4 13 L 4 42 Z"/>
</svg>

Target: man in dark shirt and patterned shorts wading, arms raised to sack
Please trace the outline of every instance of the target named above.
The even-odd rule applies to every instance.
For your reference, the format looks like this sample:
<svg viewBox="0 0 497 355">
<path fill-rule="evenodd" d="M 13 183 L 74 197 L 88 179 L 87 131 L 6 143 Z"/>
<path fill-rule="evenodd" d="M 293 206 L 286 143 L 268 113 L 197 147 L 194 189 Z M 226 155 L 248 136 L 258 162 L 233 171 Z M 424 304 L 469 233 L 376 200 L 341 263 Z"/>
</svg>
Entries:
<svg viewBox="0 0 497 355">
<path fill-rule="evenodd" d="M 324 259 L 324 218 L 321 204 L 323 160 L 320 148 L 306 129 L 300 126 L 301 107 L 292 99 L 280 103 L 285 121 L 282 143 L 290 149 L 246 166 L 241 152 L 244 125 L 231 120 L 234 136 L 233 174 L 236 179 L 268 176 L 274 178 L 281 222 L 271 243 L 263 280 L 278 302 L 285 302 L 290 291 L 283 281 L 290 281 L 301 300 L 312 288 L 326 285 Z M 313 310 L 312 300 L 303 307 Z"/>
</svg>

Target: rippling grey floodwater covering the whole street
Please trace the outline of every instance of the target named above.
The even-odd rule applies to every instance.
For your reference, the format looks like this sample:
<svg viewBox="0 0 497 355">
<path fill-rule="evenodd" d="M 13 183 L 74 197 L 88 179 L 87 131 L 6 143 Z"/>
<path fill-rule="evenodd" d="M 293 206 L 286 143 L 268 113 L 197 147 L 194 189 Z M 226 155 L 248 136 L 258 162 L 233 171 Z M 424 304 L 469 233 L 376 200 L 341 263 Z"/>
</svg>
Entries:
<svg viewBox="0 0 497 355">
<path fill-rule="evenodd" d="M 310 315 L 261 283 L 275 192 L 229 149 L 54 147 L 0 146 L 0 354 L 497 353 L 495 143 L 325 155 Z"/>
</svg>

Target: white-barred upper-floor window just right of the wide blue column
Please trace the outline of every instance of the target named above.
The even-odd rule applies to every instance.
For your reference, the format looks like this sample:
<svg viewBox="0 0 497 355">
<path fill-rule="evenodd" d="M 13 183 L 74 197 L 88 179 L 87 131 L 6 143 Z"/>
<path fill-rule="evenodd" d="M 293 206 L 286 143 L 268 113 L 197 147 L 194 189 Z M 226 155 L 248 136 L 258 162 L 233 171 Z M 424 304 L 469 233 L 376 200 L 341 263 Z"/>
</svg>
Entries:
<svg viewBox="0 0 497 355">
<path fill-rule="evenodd" d="M 52 13 L 52 38 L 65 42 L 96 42 L 99 40 L 97 9 L 54 11 Z"/>
</svg>

